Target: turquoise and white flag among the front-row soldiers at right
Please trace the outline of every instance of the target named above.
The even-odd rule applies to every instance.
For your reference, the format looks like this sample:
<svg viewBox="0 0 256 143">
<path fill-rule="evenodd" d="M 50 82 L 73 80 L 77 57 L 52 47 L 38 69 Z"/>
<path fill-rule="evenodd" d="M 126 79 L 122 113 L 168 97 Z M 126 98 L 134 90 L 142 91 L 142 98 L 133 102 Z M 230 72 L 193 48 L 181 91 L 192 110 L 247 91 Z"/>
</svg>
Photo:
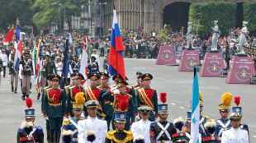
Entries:
<svg viewBox="0 0 256 143">
<path fill-rule="evenodd" d="M 199 102 L 199 85 L 197 76 L 197 66 L 194 81 L 192 85 L 192 122 L 191 122 L 191 137 L 192 143 L 199 143 L 199 120 L 200 120 L 200 102 Z"/>
</svg>

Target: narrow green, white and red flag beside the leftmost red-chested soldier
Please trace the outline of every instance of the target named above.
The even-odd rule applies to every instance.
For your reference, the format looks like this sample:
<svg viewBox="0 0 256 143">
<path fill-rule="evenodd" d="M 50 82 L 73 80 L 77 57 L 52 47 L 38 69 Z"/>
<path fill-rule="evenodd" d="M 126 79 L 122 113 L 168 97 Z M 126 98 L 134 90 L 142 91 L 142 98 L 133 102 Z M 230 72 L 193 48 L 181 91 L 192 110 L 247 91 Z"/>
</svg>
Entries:
<svg viewBox="0 0 256 143">
<path fill-rule="evenodd" d="M 41 83 L 41 71 L 43 69 L 43 42 L 39 39 L 38 51 L 37 51 L 37 63 L 36 63 L 36 89 L 37 94 L 40 93 L 40 83 Z"/>
</svg>

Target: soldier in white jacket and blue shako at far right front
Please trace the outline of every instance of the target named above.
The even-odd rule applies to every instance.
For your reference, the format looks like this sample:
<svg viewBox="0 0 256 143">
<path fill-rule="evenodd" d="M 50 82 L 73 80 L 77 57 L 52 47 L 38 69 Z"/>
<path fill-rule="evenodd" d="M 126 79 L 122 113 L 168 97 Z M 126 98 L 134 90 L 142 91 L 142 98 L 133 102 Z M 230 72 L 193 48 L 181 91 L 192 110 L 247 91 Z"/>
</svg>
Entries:
<svg viewBox="0 0 256 143">
<path fill-rule="evenodd" d="M 249 132 L 241 128 L 242 108 L 233 108 L 233 113 L 230 115 L 230 122 L 232 127 L 223 131 L 221 142 L 222 143 L 249 143 Z"/>
</svg>

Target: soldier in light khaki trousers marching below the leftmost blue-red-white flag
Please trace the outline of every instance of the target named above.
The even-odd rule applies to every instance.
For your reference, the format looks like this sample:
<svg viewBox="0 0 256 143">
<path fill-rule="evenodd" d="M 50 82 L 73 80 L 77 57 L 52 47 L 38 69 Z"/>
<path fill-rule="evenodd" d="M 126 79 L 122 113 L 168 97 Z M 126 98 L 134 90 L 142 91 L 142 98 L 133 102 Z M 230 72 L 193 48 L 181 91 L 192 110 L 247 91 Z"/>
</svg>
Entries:
<svg viewBox="0 0 256 143">
<path fill-rule="evenodd" d="M 21 60 L 20 64 L 22 66 L 22 97 L 21 99 L 25 100 L 25 96 L 26 98 L 29 97 L 30 95 L 30 88 L 31 88 L 31 75 L 33 75 L 34 71 L 33 71 L 33 65 L 32 65 L 32 61 L 29 58 L 30 57 L 30 53 L 23 53 L 23 55 L 25 56 L 24 59 Z"/>
</svg>

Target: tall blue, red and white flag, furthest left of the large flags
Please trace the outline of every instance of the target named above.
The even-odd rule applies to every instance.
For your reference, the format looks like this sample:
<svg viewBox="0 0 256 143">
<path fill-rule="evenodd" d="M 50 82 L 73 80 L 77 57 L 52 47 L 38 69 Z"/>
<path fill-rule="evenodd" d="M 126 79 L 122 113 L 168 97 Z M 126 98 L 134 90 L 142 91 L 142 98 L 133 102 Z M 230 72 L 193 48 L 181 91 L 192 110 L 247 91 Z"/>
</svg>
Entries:
<svg viewBox="0 0 256 143">
<path fill-rule="evenodd" d="M 15 71 L 19 72 L 19 62 L 21 61 L 22 55 L 22 42 L 21 42 L 21 35 L 20 35 L 21 25 L 19 24 L 19 20 L 17 19 L 17 32 L 16 32 L 16 39 L 15 39 L 15 55 L 14 55 L 14 69 Z"/>
</svg>

